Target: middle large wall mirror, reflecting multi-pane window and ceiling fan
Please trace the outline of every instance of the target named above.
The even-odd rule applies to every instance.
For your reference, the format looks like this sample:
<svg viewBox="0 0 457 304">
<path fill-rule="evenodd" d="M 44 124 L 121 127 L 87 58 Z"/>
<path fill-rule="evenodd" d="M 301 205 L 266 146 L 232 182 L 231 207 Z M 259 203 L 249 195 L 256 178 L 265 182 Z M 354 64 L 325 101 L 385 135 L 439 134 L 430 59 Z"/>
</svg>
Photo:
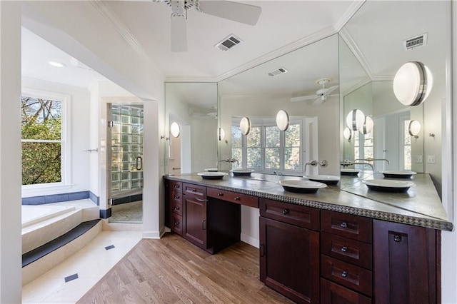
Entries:
<svg viewBox="0 0 457 304">
<path fill-rule="evenodd" d="M 336 34 L 219 82 L 219 123 L 229 134 L 219 155 L 237 161 L 220 169 L 339 175 L 338 83 Z M 328 94 L 319 95 L 322 89 Z M 289 116 L 286 131 L 276 126 L 280 110 Z M 246 135 L 243 117 L 251 121 Z M 305 166 L 313 160 L 328 166 Z"/>
</svg>

